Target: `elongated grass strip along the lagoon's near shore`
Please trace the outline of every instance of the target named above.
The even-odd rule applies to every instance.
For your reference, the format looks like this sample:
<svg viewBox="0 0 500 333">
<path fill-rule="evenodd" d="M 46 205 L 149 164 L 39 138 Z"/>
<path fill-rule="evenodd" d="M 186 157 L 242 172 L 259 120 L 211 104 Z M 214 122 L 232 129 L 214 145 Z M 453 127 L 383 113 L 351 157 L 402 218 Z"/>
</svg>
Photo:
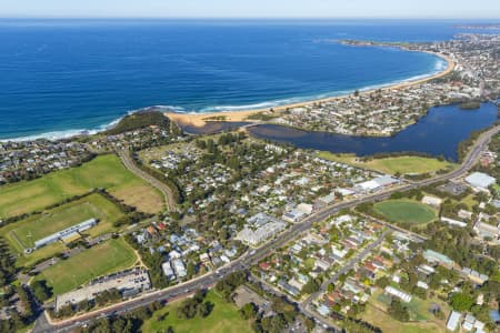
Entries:
<svg viewBox="0 0 500 333">
<path fill-rule="evenodd" d="M 394 157 L 384 159 L 372 159 L 369 161 L 361 161 L 353 154 L 333 154 L 331 152 L 320 152 L 320 158 L 341 162 L 359 168 L 371 169 L 388 174 L 418 174 L 418 173 L 433 173 L 438 170 L 452 170 L 457 164 L 448 161 L 439 161 L 438 159 L 421 158 L 421 157 Z"/>
</svg>

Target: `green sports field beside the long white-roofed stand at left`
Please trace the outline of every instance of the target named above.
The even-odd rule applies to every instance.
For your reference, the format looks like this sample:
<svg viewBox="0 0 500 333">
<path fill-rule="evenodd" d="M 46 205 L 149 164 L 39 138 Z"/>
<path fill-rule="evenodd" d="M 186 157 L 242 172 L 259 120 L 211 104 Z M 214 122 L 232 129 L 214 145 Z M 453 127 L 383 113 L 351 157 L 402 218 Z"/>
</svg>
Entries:
<svg viewBox="0 0 500 333">
<path fill-rule="evenodd" d="M 104 196 L 93 193 L 80 200 L 60 205 L 41 214 L 36 214 L 11 223 L 0 229 L 0 235 L 4 235 L 12 248 L 33 248 L 34 242 L 58 231 L 64 230 L 89 219 L 99 220 L 99 223 L 87 230 L 90 235 L 98 235 L 114 231 L 113 222 L 122 218 L 123 213 L 114 203 Z M 22 251 L 21 251 L 22 252 Z"/>
</svg>

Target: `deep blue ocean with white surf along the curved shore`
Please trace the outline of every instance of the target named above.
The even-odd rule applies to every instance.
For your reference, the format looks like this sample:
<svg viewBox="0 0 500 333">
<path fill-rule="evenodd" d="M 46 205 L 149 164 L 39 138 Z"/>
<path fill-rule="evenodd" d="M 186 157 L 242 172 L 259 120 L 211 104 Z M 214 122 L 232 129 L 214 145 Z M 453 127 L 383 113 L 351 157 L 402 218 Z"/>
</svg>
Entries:
<svg viewBox="0 0 500 333">
<path fill-rule="evenodd" d="M 271 107 L 426 75 L 444 62 L 334 40 L 447 40 L 456 23 L 0 20 L 0 139 L 102 129 L 149 105 Z"/>
</svg>

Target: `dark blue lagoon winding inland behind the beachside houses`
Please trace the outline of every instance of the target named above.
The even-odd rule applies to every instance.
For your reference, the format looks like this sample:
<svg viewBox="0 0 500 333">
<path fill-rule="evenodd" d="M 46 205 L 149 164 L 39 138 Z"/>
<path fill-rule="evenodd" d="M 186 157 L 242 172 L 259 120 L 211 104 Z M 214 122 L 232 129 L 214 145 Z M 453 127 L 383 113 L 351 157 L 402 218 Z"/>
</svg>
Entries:
<svg viewBox="0 0 500 333">
<path fill-rule="evenodd" d="M 460 105 L 431 108 L 428 114 L 391 138 L 371 138 L 310 132 L 276 124 L 249 128 L 252 137 L 302 149 L 354 153 L 359 157 L 378 153 L 418 152 L 447 160 L 458 160 L 458 145 L 473 131 L 484 129 L 498 120 L 496 103 L 482 103 L 477 110 Z"/>
</svg>

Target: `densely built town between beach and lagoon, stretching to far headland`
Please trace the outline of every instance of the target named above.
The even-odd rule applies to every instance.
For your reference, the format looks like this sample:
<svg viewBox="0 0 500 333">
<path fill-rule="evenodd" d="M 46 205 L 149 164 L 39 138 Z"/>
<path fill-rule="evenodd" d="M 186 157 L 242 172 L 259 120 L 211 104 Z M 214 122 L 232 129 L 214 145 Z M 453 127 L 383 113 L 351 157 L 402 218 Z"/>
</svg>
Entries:
<svg viewBox="0 0 500 333">
<path fill-rule="evenodd" d="M 479 108 L 498 99 L 498 34 L 461 33 L 436 43 L 332 41 L 352 47 L 390 47 L 430 52 L 444 58 L 448 69 L 429 79 L 326 99 L 302 105 L 280 107 L 248 119 L 293 128 L 349 135 L 390 137 L 416 123 L 430 107 L 461 103 Z"/>
</svg>

